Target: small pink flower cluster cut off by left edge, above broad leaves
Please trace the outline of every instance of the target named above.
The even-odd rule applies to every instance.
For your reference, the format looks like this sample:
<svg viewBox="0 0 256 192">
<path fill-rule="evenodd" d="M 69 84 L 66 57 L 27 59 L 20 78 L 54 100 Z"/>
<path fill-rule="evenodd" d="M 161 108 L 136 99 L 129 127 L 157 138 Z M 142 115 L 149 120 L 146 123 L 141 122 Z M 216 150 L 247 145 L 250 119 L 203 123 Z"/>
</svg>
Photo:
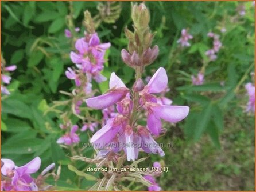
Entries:
<svg viewBox="0 0 256 192">
<path fill-rule="evenodd" d="M 1 93 L 5 95 L 9 95 L 10 91 L 6 88 L 4 84 L 10 84 L 11 77 L 9 76 L 10 71 L 15 71 L 17 69 L 17 66 L 10 65 L 5 67 L 5 63 L 1 63 L 2 69 L 1 69 L 1 78 L 2 78 L 2 85 L 1 85 Z"/>
</svg>

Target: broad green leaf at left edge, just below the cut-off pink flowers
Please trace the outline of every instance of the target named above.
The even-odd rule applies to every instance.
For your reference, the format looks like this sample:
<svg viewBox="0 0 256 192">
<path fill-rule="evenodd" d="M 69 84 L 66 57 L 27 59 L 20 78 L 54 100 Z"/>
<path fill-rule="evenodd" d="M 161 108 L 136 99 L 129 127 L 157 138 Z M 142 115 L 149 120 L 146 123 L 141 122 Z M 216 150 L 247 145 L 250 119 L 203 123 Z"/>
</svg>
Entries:
<svg viewBox="0 0 256 192">
<path fill-rule="evenodd" d="M 2 113 L 9 113 L 17 117 L 32 119 L 31 109 L 25 103 L 14 100 L 6 99 L 2 101 Z"/>
</svg>

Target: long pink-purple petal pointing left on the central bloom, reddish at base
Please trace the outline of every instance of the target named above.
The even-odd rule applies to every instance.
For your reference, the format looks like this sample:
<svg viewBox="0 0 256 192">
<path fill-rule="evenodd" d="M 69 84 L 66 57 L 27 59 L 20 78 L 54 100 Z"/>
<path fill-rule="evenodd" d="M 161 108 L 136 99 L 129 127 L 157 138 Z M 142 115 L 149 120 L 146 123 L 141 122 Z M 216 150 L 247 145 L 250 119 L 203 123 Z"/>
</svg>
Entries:
<svg viewBox="0 0 256 192">
<path fill-rule="evenodd" d="M 121 101 L 123 98 L 125 98 L 127 93 L 128 90 L 126 88 L 119 88 L 104 95 L 86 99 L 86 103 L 87 106 L 93 109 L 105 109 L 111 105 L 114 105 L 118 101 Z"/>
</svg>

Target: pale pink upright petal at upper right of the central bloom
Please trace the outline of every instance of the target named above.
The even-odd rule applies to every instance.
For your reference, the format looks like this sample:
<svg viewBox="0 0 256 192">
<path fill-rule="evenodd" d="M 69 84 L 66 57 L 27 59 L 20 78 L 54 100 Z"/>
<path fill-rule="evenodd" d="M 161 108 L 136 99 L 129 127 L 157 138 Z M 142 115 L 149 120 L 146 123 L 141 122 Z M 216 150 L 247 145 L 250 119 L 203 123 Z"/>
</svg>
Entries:
<svg viewBox="0 0 256 192">
<path fill-rule="evenodd" d="M 148 93 L 161 93 L 166 89 L 168 77 L 164 68 L 160 67 L 150 79 L 147 87 Z"/>
</svg>

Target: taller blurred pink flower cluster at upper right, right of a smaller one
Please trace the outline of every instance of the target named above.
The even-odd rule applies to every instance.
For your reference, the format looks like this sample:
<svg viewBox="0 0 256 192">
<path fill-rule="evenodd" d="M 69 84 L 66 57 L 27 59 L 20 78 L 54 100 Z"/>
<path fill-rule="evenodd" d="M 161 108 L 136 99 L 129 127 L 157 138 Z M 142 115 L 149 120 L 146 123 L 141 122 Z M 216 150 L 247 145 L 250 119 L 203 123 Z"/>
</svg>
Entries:
<svg viewBox="0 0 256 192">
<path fill-rule="evenodd" d="M 210 61 L 215 61 L 217 59 L 217 55 L 216 53 L 219 52 L 220 50 L 220 47 L 222 47 L 222 42 L 220 42 L 219 40 L 219 35 L 217 34 L 214 34 L 212 32 L 209 32 L 208 34 L 208 37 L 211 37 L 214 39 L 214 42 L 213 42 L 213 47 L 212 49 L 208 50 L 205 52 L 205 55 L 208 56 L 209 60 Z"/>
</svg>

